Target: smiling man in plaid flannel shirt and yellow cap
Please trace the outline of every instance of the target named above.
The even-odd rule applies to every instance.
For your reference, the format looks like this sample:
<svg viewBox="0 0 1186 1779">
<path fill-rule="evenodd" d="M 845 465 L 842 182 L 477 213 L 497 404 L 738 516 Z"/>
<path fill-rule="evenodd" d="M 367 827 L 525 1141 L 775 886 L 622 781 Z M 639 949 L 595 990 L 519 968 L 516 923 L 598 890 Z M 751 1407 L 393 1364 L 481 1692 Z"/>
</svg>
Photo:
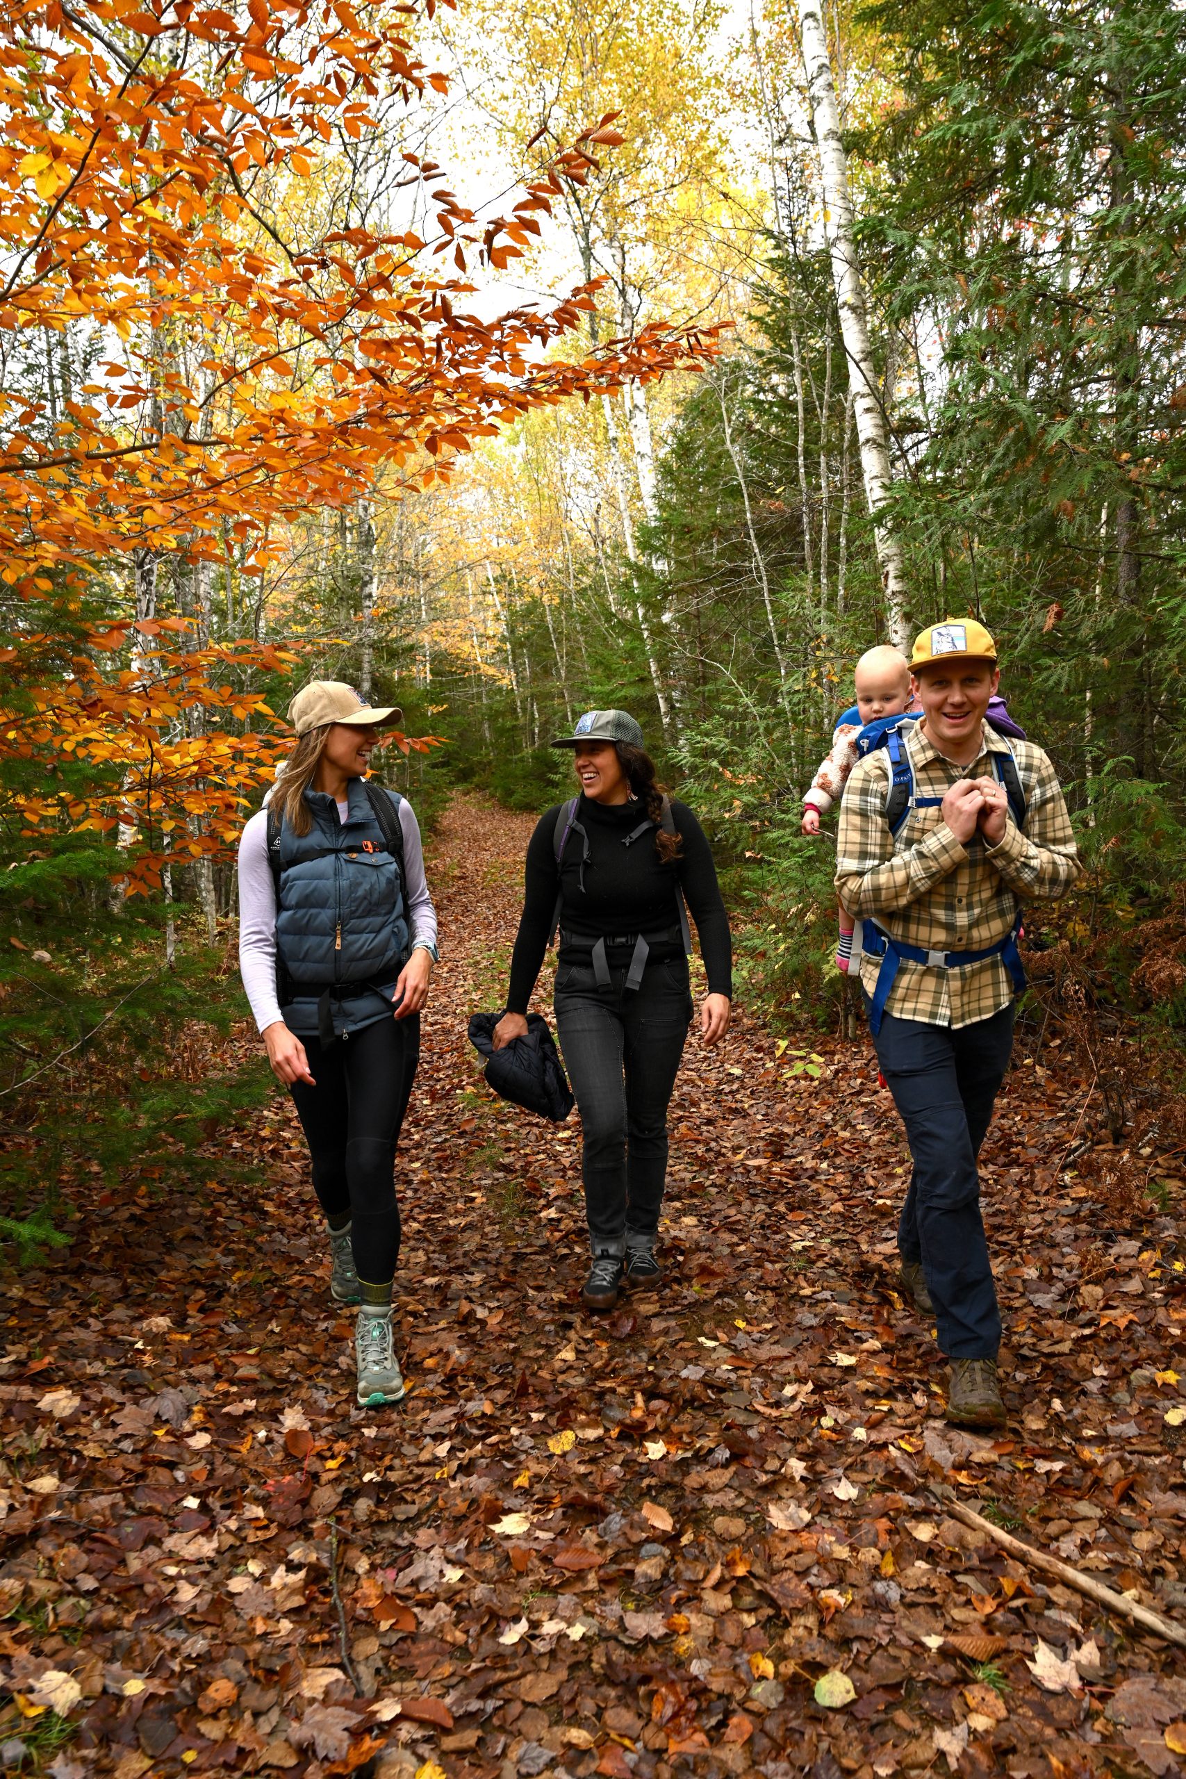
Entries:
<svg viewBox="0 0 1186 1779">
<path fill-rule="evenodd" d="M 923 720 L 903 731 L 896 769 L 885 749 L 853 769 L 836 890 L 862 922 L 869 1030 L 914 1162 L 898 1226 L 903 1284 L 934 1313 L 951 1361 L 948 1420 L 990 1425 L 1005 1420 L 1001 1316 L 976 1155 L 1014 1041 L 1021 904 L 1063 895 L 1079 857 L 1047 756 L 983 720 L 999 680 L 989 632 L 973 619 L 934 624 L 910 669 Z M 891 833 L 894 770 L 912 793 Z"/>
</svg>

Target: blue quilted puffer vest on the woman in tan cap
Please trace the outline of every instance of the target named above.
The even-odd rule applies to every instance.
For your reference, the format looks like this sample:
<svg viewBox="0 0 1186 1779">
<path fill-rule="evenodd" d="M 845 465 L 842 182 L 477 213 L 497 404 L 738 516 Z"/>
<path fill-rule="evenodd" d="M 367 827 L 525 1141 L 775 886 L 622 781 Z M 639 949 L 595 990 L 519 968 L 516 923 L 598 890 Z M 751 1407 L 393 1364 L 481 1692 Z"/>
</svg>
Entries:
<svg viewBox="0 0 1186 1779">
<path fill-rule="evenodd" d="M 299 836 L 284 824 L 279 836 L 281 1012 L 290 1032 L 322 1041 L 389 1019 L 407 957 L 404 884 L 363 779 L 350 779 L 347 799 L 341 822 L 333 797 L 306 792 L 313 827 Z"/>
</svg>

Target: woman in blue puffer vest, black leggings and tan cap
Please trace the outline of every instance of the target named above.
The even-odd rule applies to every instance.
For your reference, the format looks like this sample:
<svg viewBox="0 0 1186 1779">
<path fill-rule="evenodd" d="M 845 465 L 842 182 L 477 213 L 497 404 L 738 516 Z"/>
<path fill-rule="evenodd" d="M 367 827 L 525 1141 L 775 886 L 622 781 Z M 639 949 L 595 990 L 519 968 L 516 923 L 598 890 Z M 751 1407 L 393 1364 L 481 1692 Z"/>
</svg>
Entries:
<svg viewBox="0 0 1186 1779">
<path fill-rule="evenodd" d="M 411 804 L 366 781 L 372 749 L 400 712 L 315 680 L 288 719 L 297 745 L 238 847 L 238 964 L 309 1144 L 331 1292 L 359 1306 L 357 1400 L 398 1402 L 395 1149 L 420 1060 L 436 911 Z"/>
</svg>

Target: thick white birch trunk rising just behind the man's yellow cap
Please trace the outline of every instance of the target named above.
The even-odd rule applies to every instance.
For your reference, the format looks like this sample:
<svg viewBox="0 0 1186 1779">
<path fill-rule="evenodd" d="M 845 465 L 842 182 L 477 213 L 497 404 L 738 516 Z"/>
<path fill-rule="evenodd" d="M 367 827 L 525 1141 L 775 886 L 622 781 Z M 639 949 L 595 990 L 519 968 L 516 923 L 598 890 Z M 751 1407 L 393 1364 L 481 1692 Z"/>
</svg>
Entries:
<svg viewBox="0 0 1186 1779">
<path fill-rule="evenodd" d="M 836 85 L 832 82 L 832 62 L 829 59 L 827 32 L 820 14 L 820 0 L 798 0 L 798 23 L 802 30 L 804 64 L 807 69 L 807 94 L 811 98 L 816 142 L 820 148 L 820 176 L 823 181 L 829 247 L 832 253 L 832 279 L 836 283 L 839 331 L 845 342 L 845 356 L 848 358 L 848 384 L 852 388 L 853 411 L 857 416 L 864 496 L 869 503 L 869 516 L 873 519 L 877 560 L 882 569 L 882 585 L 885 589 L 885 619 L 889 633 L 896 646 L 905 649 L 909 640 L 909 623 L 905 610 L 907 585 L 902 539 L 889 532 L 884 523 L 884 509 L 889 500 L 889 486 L 893 480 L 889 470 L 889 436 L 877 390 L 873 349 L 869 345 L 869 318 L 852 238 L 848 157 L 839 133 L 839 109 L 836 105 Z"/>
</svg>

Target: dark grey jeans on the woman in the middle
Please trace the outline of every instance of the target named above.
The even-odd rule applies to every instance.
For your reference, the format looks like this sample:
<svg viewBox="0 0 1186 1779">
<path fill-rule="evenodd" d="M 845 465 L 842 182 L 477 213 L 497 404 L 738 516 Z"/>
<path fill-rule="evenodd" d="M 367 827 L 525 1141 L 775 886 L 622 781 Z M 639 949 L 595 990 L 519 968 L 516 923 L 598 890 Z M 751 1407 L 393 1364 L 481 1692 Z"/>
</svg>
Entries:
<svg viewBox="0 0 1186 1779">
<path fill-rule="evenodd" d="M 592 964 L 557 973 L 557 1032 L 585 1139 L 583 1179 L 594 1254 L 653 1247 L 667 1179 L 667 1107 L 692 1019 L 688 964 L 647 964 L 642 987 Z"/>
</svg>

